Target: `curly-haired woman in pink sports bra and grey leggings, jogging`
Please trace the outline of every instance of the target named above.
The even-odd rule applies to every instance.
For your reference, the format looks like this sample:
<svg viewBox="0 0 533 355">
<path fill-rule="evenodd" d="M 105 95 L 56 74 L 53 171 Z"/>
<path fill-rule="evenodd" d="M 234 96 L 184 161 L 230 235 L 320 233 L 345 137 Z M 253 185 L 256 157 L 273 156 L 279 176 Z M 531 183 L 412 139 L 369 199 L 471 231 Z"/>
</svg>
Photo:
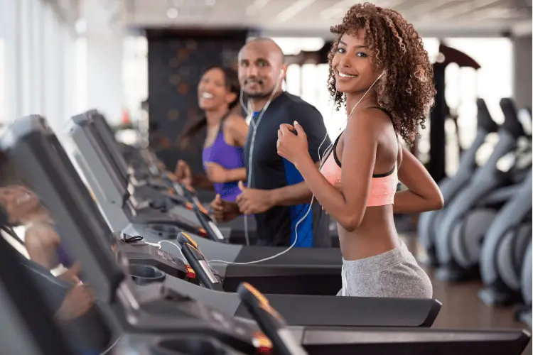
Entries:
<svg viewBox="0 0 533 355">
<path fill-rule="evenodd" d="M 428 54 L 397 11 L 372 4 L 352 6 L 331 31 L 337 38 L 328 85 L 337 109 L 346 106 L 346 129 L 321 170 L 309 158 L 306 133 L 296 121 L 280 126 L 278 153 L 296 165 L 338 222 L 339 295 L 430 298 L 431 280 L 399 239 L 393 218 L 443 206 L 436 182 L 399 141 L 414 140 L 434 102 Z M 396 192 L 398 180 L 407 190 Z"/>
</svg>

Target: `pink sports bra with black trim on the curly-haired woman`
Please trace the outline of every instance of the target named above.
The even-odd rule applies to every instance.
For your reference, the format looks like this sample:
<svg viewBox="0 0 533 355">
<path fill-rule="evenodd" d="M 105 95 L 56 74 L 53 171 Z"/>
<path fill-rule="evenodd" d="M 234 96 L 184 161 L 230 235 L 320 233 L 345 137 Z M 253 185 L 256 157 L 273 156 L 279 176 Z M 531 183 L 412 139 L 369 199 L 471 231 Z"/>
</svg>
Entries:
<svg viewBox="0 0 533 355">
<path fill-rule="evenodd" d="M 328 156 L 322 165 L 321 173 L 328 182 L 340 189 L 341 187 L 341 163 L 337 156 L 337 143 L 340 135 L 333 144 L 333 153 Z M 368 195 L 367 207 L 384 206 L 394 204 L 394 194 L 398 185 L 397 166 L 389 173 L 372 175 L 370 182 L 370 194 Z"/>
</svg>

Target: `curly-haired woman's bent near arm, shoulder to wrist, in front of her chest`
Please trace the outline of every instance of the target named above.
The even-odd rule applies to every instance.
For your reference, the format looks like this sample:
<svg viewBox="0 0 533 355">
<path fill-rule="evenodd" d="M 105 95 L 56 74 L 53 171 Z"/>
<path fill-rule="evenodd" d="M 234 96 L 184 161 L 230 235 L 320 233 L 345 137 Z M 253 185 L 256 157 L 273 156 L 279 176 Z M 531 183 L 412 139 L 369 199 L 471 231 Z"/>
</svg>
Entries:
<svg viewBox="0 0 533 355">
<path fill-rule="evenodd" d="M 318 202 L 347 231 L 357 229 L 365 216 L 376 159 L 379 133 L 376 125 L 379 124 L 381 122 L 375 115 L 365 111 L 361 111 L 357 119 L 348 121 L 344 133 L 342 191 L 323 177 L 311 158 L 306 157 L 302 163 L 296 161 L 295 164 Z M 296 125 L 296 130 L 298 136 L 303 133 L 299 125 Z"/>
</svg>

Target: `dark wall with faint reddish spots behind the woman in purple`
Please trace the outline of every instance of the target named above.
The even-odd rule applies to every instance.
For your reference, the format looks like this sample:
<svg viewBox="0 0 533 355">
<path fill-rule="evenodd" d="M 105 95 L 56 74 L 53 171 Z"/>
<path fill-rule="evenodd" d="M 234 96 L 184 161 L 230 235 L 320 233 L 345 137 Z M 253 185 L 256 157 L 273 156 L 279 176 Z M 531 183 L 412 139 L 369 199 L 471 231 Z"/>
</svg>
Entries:
<svg viewBox="0 0 533 355">
<path fill-rule="evenodd" d="M 188 120 L 201 114 L 197 86 L 211 65 L 237 67 L 237 54 L 247 31 L 146 31 L 149 65 L 150 146 L 168 170 L 178 159 L 188 161 L 195 173 L 203 172 L 201 153 L 205 130 L 190 148 L 178 148 Z"/>
</svg>

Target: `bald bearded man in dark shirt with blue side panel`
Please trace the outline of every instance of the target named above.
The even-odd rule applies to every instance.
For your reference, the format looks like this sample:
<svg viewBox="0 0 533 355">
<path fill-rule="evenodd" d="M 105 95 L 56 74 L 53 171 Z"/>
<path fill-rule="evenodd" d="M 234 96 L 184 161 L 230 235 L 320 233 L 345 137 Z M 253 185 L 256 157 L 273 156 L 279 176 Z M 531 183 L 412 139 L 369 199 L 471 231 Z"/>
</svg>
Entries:
<svg viewBox="0 0 533 355">
<path fill-rule="evenodd" d="M 217 195 L 211 204 L 212 211 L 218 222 L 228 222 L 241 213 L 253 214 L 259 245 L 292 245 L 296 224 L 302 219 L 295 246 L 330 246 L 328 216 L 317 203 L 306 216 L 311 191 L 298 169 L 281 158 L 276 148 L 279 126 L 298 121 L 306 131 L 309 154 L 318 165 L 330 145 L 323 117 L 311 104 L 282 89 L 287 65 L 283 51 L 274 40 L 255 38 L 249 41 L 240 50 L 238 60 L 239 82 L 248 99 L 248 114 L 252 114 L 244 146 L 247 176 L 250 173 L 252 176 L 248 186 L 239 183 L 242 194 L 236 203 L 223 201 Z"/>
</svg>

